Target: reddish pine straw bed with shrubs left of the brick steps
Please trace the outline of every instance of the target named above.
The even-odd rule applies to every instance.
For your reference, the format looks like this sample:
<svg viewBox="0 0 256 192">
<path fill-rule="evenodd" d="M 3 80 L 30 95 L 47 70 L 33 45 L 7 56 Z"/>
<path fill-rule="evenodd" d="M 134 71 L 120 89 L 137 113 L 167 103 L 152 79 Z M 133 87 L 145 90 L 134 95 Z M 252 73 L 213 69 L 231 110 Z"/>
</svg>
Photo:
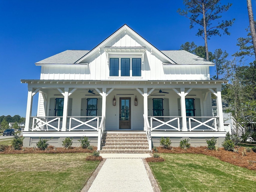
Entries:
<svg viewBox="0 0 256 192">
<path fill-rule="evenodd" d="M 0 152 L 0 154 L 22 154 L 22 153 L 92 153 L 96 151 L 97 147 L 93 147 L 93 150 L 83 149 L 82 147 L 71 147 L 69 149 L 65 149 L 63 147 L 54 148 L 53 146 L 48 146 L 46 150 L 40 150 L 39 148 L 33 147 L 25 147 L 20 150 L 13 150 L 11 146 Z"/>
</svg>

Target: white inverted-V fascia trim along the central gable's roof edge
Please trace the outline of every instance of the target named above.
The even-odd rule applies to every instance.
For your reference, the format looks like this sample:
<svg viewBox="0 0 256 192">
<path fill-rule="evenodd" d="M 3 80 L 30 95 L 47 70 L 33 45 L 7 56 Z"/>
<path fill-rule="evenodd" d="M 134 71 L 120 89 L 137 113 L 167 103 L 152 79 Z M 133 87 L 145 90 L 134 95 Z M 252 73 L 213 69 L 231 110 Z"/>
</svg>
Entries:
<svg viewBox="0 0 256 192">
<path fill-rule="evenodd" d="M 171 60 L 169 57 L 167 57 L 165 54 L 163 54 L 161 51 L 159 51 L 157 48 L 155 48 L 153 45 L 151 45 L 149 42 L 147 42 L 143 37 L 141 37 L 139 34 L 137 34 L 135 31 L 133 31 L 127 25 L 123 25 L 120 29 L 115 31 L 111 36 L 109 36 L 107 39 L 102 41 L 97 47 L 92 49 L 90 52 L 88 52 L 85 56 L 80 58 L 75 63 L 79 63 L 82 60 L 86 59 L 87 57 L 90 57 L 91 55 L 93 55 L 94 52 L 98 52 L 100 47 L 103 47 L 104 44 L 106 44 L 107 42 L 111 41 L 112 38 L 116 36 L 116 34 L 121 33 L 121 31 L 123 31 L 123 30 L 127 30 L 129 33 L 131 33 L 132 35 L 136 36 L 140 41 L 144 42 L 144 44 L 146 44 L 148 48 L 151 48 L 152 51 L 156 52 L 160 57 L 164 57 L 170 63 L 176 64 L 173 60 Z"/>
</svg>

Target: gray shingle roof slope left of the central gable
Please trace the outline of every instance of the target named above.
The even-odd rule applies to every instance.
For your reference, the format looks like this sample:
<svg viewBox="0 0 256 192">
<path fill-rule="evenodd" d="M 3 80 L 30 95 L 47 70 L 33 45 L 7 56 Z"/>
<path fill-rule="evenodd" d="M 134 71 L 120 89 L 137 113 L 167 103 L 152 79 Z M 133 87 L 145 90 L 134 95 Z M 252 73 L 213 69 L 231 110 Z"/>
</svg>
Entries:
<svg viewBox="0 0 256 192">
<path fill-rule="evenodd" d="M 88 52 L 88 50 L 66 50 L 38 61 L 36 64 L 73 64 Z"/>
</svg>

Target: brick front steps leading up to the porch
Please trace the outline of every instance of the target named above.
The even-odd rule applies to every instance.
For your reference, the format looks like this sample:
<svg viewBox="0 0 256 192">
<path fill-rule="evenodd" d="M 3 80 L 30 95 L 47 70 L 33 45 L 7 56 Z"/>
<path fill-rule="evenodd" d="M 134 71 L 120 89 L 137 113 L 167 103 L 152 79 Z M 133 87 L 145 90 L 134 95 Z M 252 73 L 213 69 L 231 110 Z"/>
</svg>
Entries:
<svg viewBox="0 0 256 192">
<path fill-rule="evenodd" d="M 100 153 L 150 153 L 146 133 L 104 133 Z"/>
</svg>

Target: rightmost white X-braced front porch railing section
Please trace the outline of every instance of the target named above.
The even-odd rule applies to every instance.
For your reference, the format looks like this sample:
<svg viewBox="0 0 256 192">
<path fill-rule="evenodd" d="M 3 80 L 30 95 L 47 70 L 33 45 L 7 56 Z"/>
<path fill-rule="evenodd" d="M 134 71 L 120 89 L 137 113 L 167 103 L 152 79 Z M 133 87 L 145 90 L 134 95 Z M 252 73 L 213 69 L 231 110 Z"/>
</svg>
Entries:
<svg viewBox="0 0 256 192">
<path fill-rule="evenodd" d="M 219 117 L 187 117 L 189 131 L 219 131 Z"/>
</svg>

